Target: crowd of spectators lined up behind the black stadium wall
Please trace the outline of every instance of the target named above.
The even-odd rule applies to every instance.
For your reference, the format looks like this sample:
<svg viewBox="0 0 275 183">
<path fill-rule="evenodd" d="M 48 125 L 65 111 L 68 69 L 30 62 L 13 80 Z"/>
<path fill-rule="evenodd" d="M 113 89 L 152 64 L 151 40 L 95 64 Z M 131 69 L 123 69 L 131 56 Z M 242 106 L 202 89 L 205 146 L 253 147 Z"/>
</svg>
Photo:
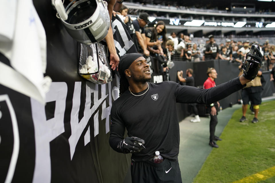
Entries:
<svg viewBox="0 0 275 183">
<path fill-rule="evenodd" d="M 263 58 L 263 71 L 272 71 L 275 63 L 275 45 L 268 39 L 259 44 L 257 39 L 245 38 L 241 41 L 235 39 L 221 39 L 216 41 L 213 35 L 209 39 L 194 38 L 192 34 L 184 35 L 182 32 L 172 32 L 167 36 L 167 30 L 163 21 L 158 21 L 154 27 L 147 27 L 149 15 L 140 13 L 136 20 L 131 20 L 127 15 L 128 8 L 125 5 L 119 9 L 117 14 L 123 16 L 123 21 L 127 25 L 129 33 L 136 45 L 137 51 L 146 56 L 159 58 L 164 55 L 166 59 L 172 61 L 206 61 L 213 59 L 229 60 L 230 62 L 242 65 L 246 54 L 252 44 L 259 45 Z M 168 58 L 169 55 L 169 58 Z M 162 62 L 161 62 L 162 63 Z M 162 63 L 163 64 L 163 63 Z M 164 68 L 166 67 L 165 64 Z"/>
</svg>

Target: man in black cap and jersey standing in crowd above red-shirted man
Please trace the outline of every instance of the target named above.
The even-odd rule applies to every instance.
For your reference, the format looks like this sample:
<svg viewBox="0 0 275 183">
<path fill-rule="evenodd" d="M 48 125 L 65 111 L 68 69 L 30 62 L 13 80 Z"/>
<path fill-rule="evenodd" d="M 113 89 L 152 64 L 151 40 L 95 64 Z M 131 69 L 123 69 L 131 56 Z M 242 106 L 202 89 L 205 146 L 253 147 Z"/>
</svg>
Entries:
<svg viewBox="0 0 275 183">
<path fill-rule="evenodd" d="M 209 35 L 209 43 L 205 46 L 205 60 L 218 59 L 219 47 L 214 43 L 214 36 Z"/>
</svg>

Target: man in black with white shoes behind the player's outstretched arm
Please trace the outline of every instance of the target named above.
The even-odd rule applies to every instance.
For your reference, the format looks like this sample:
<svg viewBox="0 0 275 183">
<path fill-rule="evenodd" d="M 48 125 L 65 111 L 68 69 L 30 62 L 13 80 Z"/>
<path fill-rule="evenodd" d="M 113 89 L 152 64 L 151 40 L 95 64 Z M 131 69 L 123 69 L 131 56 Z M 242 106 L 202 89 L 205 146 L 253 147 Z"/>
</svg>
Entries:
<svg viewBox="0 0 275 183">
<path fill-rule="evenodd" d="M 192 74 L 193 74 L 193 69 L 190 69 L 190 68 L 186 70 L 186 77 L 183 77 L 183 71 L 178 71 L 177 73 L 178 80 L 182 83 L 186 83 L 187 86 L 195 86 L 195 79 L 192 76 Z M 199 112 L 197 109 L 197 104 L 189 104 L 189 105 L 195 114 L 195 118 L 191 119 L 190 121 L 193 123 L 201 122 L 201 119 L 199 117 Z"/>
</svg>

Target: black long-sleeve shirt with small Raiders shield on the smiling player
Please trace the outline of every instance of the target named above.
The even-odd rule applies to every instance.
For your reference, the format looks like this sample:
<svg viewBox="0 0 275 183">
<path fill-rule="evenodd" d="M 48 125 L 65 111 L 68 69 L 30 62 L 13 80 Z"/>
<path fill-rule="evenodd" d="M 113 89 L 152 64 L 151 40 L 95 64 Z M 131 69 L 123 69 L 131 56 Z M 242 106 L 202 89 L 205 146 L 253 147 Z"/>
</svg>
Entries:
<svg viewBox="0 0 275 183">
<path fill-rule="evenodd" d="M 169 160 L 178 160 L 180 134 L 176 102 L 211 104 L 243 88 L 238 77 L 209 89 L 182 86 L 173 81 L 148 84 L 149 90 L 144 95 L 133 96 L 127 90 L 111 108 L 109 143 L 115 151 L 121 152 L 118 144 L 123 140 L 125 127 L 128 136 L 145 141 L 146 149 L 132 154 L 134 161 L 146 161 L 155 151 Z"/>
</svg>

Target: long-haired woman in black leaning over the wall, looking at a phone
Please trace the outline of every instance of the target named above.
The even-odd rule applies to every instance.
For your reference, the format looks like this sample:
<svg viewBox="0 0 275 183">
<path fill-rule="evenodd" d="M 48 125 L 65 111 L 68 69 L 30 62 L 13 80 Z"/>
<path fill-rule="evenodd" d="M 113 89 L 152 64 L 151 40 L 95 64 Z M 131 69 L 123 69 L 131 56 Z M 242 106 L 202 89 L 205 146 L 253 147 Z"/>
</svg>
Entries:
<svg viewBox="0 0 275 183">
<path fill-rule="evenodd" d="M 165 48 L 166 28 L 163 21 L 158 21 L 155 27 L 150 27 L 145 30 L 146 44 L 150 53 L 154 56 L 157 54 L 163 54 Z M 163 46 L 164 43 L 164 46 Z"/>
</svg>

